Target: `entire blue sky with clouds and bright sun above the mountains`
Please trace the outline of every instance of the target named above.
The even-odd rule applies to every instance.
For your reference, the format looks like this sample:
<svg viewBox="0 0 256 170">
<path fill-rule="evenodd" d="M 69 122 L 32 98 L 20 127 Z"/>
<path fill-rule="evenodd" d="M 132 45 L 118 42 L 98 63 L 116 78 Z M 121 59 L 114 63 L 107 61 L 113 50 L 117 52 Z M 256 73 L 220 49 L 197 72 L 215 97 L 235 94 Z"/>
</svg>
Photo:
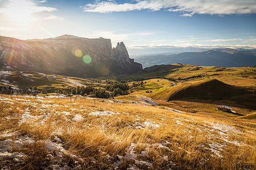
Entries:
<svg viewBox="0 0 256 170">
<path fill-rule="evenodd" d="M 124 42 L 130 55 L 256 48 L 255 0 L 0 0 L 0 35 Z"/>
</svg>

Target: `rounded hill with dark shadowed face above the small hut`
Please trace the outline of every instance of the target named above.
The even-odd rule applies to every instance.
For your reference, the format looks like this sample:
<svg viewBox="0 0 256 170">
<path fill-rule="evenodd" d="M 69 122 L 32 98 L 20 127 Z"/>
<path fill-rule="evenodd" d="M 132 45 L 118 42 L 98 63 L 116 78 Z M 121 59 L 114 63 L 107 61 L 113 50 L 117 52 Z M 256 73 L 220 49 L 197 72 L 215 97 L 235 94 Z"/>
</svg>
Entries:
<svg viewBox="0 0 256 170">
<path fill-rule="evenodd" d="M 171 86 L 159 93 L 152 94 L 153 99 L 159 100 L 191 100 L 202 101 L 228 100 L 245 103 L 255 109 L 256 102 L 253 92 L 239 86 L 232 86 L 214 78 L 193 82 L 184 82 Z"/>
</svg>

